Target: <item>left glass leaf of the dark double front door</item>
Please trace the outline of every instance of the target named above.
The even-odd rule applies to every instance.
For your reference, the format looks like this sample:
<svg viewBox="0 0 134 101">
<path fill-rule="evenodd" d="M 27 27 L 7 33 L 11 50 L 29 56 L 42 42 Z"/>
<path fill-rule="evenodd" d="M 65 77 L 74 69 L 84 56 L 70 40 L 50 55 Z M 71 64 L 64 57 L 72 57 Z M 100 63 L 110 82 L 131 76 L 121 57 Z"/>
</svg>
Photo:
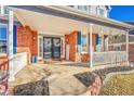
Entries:
<svg viewBox="0 0 134 101">
<path fill-rule="evenodd" d="M 52 38 L 44 37 L 43 56 L 44 56 L 44 59 L 52 58 Z"/>
</svg>

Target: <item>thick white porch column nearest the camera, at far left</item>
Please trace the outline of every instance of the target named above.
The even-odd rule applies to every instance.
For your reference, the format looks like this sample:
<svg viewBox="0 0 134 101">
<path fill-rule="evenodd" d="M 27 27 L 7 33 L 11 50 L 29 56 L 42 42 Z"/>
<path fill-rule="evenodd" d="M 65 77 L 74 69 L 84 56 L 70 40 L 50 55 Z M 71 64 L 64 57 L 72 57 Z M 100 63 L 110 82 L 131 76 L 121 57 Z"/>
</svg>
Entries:
<svg viewBox="0 0 134 101">
<path fill-rule="evenodd" d="M 9 55 L 9 71 L 10 71 L 10 79 L 14 80 L 13 76 L 13 11 L 9 12 L 9 35 L 8 35 L 8 55 Z"/>
</svg>

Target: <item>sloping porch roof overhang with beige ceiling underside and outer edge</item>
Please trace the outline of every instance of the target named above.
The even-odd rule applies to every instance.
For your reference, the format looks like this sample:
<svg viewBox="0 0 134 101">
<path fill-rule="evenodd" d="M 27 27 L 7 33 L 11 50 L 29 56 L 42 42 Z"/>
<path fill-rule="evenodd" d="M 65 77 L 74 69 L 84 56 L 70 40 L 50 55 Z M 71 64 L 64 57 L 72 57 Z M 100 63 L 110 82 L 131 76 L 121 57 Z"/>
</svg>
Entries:
<svg viewBox="0 0 134 101">
<path fill-rule="evenodd" d="M 89 33 L 89 24 L 102 25 L 119 29 L 130 29 L 134 26 L 106 17 L 91 15 L 69 7 L 14 7 L 15 15 L 23 25 L 28 25 L 38 31 L 69 34 L 72 30 Z M 93 33 L 99 29 L 94 27 Z"/>
</svg>

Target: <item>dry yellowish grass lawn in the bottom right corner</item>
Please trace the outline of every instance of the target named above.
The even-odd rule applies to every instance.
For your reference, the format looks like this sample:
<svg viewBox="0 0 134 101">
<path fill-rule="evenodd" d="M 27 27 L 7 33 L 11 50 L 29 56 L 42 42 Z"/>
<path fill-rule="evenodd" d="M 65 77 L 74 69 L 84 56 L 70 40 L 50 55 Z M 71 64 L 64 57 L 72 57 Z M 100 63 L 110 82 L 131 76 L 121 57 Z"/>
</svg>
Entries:
<svg viewBox="0 0 134 101">
<path fill-rule="evenodd" d="M 105 96 L 134 96 L 134 73 L 119 74 L 110 77 L 102 89 Z"/>
</svg>

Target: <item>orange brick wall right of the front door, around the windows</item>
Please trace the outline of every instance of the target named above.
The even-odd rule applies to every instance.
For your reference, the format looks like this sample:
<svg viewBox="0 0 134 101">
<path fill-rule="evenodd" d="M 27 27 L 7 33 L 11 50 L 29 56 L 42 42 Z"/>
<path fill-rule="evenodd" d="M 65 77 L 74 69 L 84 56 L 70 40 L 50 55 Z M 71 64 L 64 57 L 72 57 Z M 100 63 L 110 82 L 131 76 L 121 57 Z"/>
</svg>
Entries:
<svg viewBox="0 0 134 101">
<path fill-rule="evenodd" d="M 69 35 L 65 35 L 65 53 L 66 53 L 66 46 L 70 46 L 69 50 L 69 60 L 70 61 L 82 61 L 86 62 L 90 61 L 90 53 L 78 53 L 78 34 L 79 31 L 75 30 Z M 95 51 L 95 34 L 93 34 L 93 50 Z M 66 56 L 66 55 L 65 55 Z"/>
</svg>

